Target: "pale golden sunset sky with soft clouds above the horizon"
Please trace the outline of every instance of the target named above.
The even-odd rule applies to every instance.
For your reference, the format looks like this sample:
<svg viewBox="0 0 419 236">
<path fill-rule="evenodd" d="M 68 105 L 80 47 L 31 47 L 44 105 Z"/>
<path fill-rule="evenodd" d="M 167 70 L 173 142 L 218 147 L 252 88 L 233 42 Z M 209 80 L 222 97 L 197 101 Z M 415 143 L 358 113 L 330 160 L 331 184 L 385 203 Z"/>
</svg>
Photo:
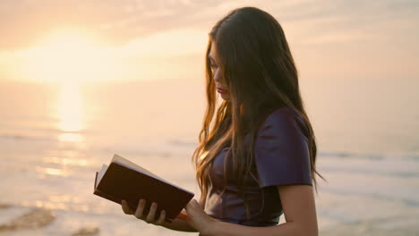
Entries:
<svg viewBox="0 0 419 236">
<path fill-rule="evenodd" d="M 0 80 L 195 80 L 241 6 L 279 21 L 303 80 L 419 79 L 419 1 L 2 0 Z"/>
</svg>

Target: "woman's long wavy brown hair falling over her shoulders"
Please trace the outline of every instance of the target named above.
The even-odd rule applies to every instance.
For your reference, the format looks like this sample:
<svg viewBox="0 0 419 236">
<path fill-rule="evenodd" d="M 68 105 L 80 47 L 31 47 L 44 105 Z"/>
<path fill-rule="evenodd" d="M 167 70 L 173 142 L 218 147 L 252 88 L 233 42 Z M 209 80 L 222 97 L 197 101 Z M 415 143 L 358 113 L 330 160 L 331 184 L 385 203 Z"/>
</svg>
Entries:
<svg viewBox="0 0 419 236">
<path fill-rule="evenodd" d="M 208 58 L 213 42 L 217 46 L 218 66 L 222 69 L 231 97 L 231 100 L 219 105 Z M 227 158 L 231 158 L 233 176 L 238 182 L 240 195 L 245 199 L 243 176 L 251 174 L 258 126 L 264 114 L 269 114 L 279 106 L 290 107 L 303 117 L 309 130 L 312 173 L 317 173 L 323 179 L 315 168 L 316 141 L 304 111 L 294 59 L 278 21 L 255 7 L 231 11 L 209 32 L 205 59 L 208 104 L 198 137 L 200 145 L 192 154 L 201 189 L 201 202 L 205 201 L 208 193 L 211 161 L 224 147 L 230 147 L 224 176 L 227 176 Z M 244 145 L 244 136 L 249 132 L 251 145 Z M 312 174 L 317 191 L 315 177 Z"/>
</svg>

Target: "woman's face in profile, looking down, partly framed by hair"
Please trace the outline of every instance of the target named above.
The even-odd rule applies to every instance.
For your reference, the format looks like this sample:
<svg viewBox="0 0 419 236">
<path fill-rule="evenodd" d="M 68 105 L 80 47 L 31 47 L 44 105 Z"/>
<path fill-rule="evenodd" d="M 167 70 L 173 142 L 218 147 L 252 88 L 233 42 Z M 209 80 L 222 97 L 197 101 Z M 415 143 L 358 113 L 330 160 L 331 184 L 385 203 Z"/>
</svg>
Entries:
<svg viewBox="0 0 419 236">
<path fill-rule="evenodd" d="M 209 52 L 209 61 L 211 62 L 212 76 L 216 84 L 216 88 L 221 97 L 229 101 L 230 93 L 226 83 L 226 80 L 223 78 L 223 73 L 219 67 L 218 56 L 216 52 L 216 45 L 214 42 L 211 43 L 211 51 Z"/>
</svg>

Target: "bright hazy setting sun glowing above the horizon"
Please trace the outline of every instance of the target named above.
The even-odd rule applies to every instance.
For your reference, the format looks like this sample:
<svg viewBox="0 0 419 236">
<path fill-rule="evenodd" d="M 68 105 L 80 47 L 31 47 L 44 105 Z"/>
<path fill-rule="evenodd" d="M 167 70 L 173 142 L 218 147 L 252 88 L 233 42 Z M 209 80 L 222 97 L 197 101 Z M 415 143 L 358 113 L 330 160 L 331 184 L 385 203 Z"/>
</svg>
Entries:
<svg viewBox="0 0 419 236">
<path fill-rule="evenodd" d="M 59 30 L 24 53 L 25 76 L 41 81 L 81 83 L 115 75 L 112 50 L 81 30 Z"/>
</svg>

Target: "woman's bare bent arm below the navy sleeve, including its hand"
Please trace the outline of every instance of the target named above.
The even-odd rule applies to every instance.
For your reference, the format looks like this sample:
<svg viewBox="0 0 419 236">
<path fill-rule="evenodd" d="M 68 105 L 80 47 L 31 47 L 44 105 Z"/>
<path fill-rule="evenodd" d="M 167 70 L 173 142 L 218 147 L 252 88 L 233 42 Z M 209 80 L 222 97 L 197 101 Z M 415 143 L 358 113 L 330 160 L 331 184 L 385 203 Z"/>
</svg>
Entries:
<svg viewBox="0 0 419 236">
<path fill-rule="evenodd" d="M 202 236 L 317 236 L 317 216 L 312 186 L 278 186 L 286 223 L 270 227 L 252 227 L 235 223 L 212 221 L 208 215 L 202 215 L 197 206 L 188 206 L 186 210 L 193 218 L 195 227 Z M 195 217 L 193 217 L 195 215 Z M 201 216 L 201 217 L 200 217 Z"/>
</svg>

